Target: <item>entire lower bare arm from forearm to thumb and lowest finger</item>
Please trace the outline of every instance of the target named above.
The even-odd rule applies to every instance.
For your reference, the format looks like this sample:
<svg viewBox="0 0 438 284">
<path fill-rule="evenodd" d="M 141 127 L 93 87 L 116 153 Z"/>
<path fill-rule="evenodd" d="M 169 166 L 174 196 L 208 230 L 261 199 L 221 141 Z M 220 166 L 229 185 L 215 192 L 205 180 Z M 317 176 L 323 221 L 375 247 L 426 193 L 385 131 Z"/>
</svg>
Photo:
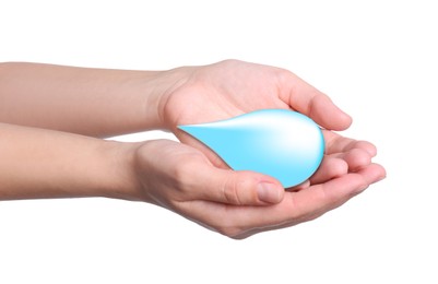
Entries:
<svg viewBox="0 0 438 284">
<path fill-rule="evenodd" d="M 338 143 L 330 151 L 342 147 L 350 146 Z M 120 143 L 5 123 L 0 157 L 0 200 L 139 200 L 233 238 L 312 220 L 384 177 L 381 166 L 368 164 L 289 192 L 268 176 L 217 168 L 200 151 L 173 141 Z M 274 194 L 258 196 L 260 185 Z"/>
</svg>

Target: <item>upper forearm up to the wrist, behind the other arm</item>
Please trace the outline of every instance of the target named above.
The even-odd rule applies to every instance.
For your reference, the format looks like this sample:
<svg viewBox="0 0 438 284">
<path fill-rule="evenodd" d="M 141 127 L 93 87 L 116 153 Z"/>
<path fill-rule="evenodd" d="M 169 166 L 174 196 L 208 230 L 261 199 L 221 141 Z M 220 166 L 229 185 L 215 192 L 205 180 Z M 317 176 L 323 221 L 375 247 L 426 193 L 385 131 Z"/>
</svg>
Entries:
<svg viewBox="0 0 438 284">
<path fill-rule="evenodd" d="M 162 128 L 159 73 L 0 63 L 0 122 L 93 137 Z"/>
</svg>

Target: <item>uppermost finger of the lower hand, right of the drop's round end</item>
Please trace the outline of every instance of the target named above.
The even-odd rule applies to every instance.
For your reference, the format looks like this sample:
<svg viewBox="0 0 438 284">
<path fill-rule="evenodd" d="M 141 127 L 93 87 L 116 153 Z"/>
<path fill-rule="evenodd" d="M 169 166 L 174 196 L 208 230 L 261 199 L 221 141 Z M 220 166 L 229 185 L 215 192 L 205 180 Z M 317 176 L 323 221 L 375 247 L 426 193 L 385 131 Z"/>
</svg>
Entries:
<svg viewBox="0 0 438 284">
<path fill-rule="evenodd" d="M 327 130 L 323 130 L 322 134 L 325 141 L 325 154 L 328 155 L 346 152 L 352 149 L 363 149 L 364 151 L 368 152 L 371 157 L 376 156 L 377 154 L 376 146 L 368 141 L 345 138 L 333 131 Z"/>
</svg>

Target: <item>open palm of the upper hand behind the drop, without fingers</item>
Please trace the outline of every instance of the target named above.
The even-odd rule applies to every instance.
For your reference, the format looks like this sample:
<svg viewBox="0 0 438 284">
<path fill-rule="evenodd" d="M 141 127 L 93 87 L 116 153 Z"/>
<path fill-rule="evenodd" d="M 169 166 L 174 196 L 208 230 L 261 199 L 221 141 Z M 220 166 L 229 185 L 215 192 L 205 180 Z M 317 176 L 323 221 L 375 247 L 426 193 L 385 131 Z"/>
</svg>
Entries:
<svg viewBox="0 0 438 284">
<path fill-rule="evenodd" d="M 275 75 L 253 64 L 225 62 L 191 71 L 190 79 L 166 98 L 165 117 L 173 130 L 177 125 L 210 122 L 261 108 L 288 108 L 279 98 Z"/>
</svg>

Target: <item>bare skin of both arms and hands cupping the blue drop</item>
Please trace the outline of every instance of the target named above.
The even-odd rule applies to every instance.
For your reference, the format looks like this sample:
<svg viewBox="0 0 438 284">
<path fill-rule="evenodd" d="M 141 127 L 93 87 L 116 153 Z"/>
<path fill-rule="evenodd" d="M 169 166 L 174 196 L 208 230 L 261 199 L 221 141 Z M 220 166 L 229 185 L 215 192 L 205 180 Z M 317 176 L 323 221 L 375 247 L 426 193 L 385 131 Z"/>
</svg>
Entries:
<svg viewBox="0 0 438 284">
<path fill-rule="evenodd" d="M 303 185 L 230 170 L 177 129 L 261 108 L 294 109 L 323 129 L 323 162 Z M 371 143 L 333 132 L 352 119 L 327 95 L 287 70 L 237 60 L 168 71 L 1 63 L 0 121 L 0 199 L 144 201 L 233 238 L 318 217 L 386 176 Z M 102 140 L 151 129 L 181 143 Z"/>
</svg>

